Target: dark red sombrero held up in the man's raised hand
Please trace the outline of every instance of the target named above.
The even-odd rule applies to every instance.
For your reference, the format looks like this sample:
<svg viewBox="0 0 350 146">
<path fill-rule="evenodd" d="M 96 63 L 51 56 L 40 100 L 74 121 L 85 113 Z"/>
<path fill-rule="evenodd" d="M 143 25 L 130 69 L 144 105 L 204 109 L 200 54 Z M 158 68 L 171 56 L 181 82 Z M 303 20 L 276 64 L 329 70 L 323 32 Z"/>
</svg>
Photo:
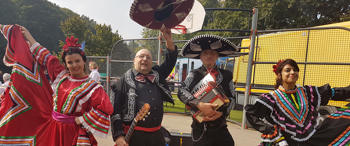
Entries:
<svg viewBox="0 0 350 146">
<path fill-rule="evenodd" d="M 191 11 L 194 0 L 134 0 L 130 18 L 151 29 L 172 29 Z"/>
</svg>

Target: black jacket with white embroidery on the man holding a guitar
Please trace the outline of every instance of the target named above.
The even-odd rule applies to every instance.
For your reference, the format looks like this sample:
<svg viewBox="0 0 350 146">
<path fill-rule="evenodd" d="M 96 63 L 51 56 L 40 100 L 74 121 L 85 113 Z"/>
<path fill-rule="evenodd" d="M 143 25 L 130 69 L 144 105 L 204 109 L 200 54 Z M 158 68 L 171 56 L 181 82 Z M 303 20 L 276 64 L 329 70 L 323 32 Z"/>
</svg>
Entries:
<svg viewBox="0 0 350 146">
<path fill-rule="evenodd" d="M 172 52 L 168 52 L 168 49 L 166 49 L 165 61 L 161 65 L 154 65 L 151 70 L 151 72 L 155 74 L 154 83 L 160 88 L 161 98 L 163 101 L 172 104 L 174 104 L 174 99 L 165 79 L 175 67 L 177 55 L 177 46 L 175 46 L 175 51 Z M 137 81 L 135 81 L 135 76 L 132 73 L 132 69 L 130 69 L 111 86 L 111 103 L 114 112 L 110 119 L 113 140 L 115 140 L 118 135 L 124 134 L 123 123 L 130 125 L 140 110 L 135 109 L 135 105 L 137 103 L 137 95 L 142 93 L 138 93 L 135 82 Z"/>
</svg>

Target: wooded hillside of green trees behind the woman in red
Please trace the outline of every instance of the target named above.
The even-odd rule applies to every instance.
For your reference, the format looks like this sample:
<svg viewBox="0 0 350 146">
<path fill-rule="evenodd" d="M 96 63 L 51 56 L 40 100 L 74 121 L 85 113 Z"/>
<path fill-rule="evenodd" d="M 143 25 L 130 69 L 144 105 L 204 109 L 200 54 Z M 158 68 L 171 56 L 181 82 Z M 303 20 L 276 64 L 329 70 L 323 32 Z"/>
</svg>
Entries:
<svg viewBox="0 0 350 146">
<path fill-rule="evenodd" d="M 122 39 L 118 31 L 111 32 L 111 26 L 98 25 L 88 16 L 80 16 L 48 0 L 2 0 L 0 7 L 0 24 L 17 23 L 26 27 L 34 39 L 59 60 L 66 37 L 73 35 L 79 43 L 86 40 L 87 56 L 106 56 L 114 43 Z M 7 40 L 0 39 L 1 57 L 5 55 L 6 46 Z M 11 73 L 12 67 L 0 63 L 0 69 Z"/>
</svg>

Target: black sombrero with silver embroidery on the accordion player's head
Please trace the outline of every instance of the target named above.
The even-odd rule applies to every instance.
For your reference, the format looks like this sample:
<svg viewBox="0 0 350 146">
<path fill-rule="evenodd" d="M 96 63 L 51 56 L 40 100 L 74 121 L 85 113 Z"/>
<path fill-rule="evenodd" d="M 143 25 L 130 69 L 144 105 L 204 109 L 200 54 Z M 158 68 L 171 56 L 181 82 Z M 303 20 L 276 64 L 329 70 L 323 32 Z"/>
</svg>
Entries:
<svg viewBox="0 0 350 146">
<path fill-rule="evenodd" d="M 189 40 L 181 50 L 181 55 L 187 58 L 200 59 L 203 50 L 212 49 L 219 53 L 219 57 L 225 57 L 236 53 L 235 44 L 216 35 L 200 35 Z"/>
</svg>

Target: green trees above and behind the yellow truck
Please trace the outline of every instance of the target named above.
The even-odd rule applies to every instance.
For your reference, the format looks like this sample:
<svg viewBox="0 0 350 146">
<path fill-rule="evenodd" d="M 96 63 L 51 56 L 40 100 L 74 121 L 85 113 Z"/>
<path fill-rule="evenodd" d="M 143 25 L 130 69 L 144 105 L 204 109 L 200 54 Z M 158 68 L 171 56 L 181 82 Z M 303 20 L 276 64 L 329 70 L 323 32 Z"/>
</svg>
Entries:
<svg viewBox="0 0 350 146">
<path fill-rule="evenodd" d="M 258 29 L 288 29 L 300 26 L 314 27 L 349 20 L 349 0 L 261 0 L 223 1 L 224 8 L 252 9 L 259 7 Z M 208 29 L 251 28 L 246 12 L 216 11 Z M 250 20 L 251 22 L 251 20 Z M 246 35 L 242 33 L 218 33 L 224 37 Z"/>
</svg>

